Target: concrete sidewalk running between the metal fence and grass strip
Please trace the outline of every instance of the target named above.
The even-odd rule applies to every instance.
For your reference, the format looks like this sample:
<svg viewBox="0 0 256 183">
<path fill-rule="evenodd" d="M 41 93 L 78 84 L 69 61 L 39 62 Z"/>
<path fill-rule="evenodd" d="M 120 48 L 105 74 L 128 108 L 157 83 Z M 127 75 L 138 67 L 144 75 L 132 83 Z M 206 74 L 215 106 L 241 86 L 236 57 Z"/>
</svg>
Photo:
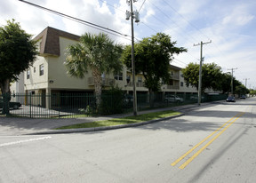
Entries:
<svg viewBox="0 0 256 183">
<path fill-rule="evenodd" d="M 217 102 L 218 103 L 218 102 Z M 216 104 L 216 102 L 204 103 L 201 104 L 200 107 L 209 106 Z M 147 111 L 140 111 L 140 114 L 148 114 L 157 111 L 164 110 L 174 110 L 180 111 L 184 113 L 186 110 L 191 110 L 193 108 L 197 108 L 197 104 L 193 105 L 185 105 L 179 107 L 168 107 L 168 108 L 159 108 Z M 99 116 L 99 117 L 84 117 L 84 118 L 67 118 L 67 119 L 30 119 L 30 118 L 12 118 L 12 117 L 0 117 L 0 136 L 8 136 L 8 135 L 25 135 L 25 134 L 52 134 L 52 133 L 71 133 L 71 132 L 84 132 L 84 131 L 102 131 L 102 130 L 110 130 L 124 127 L 132 127 L 138 126 L 146 123 L 154 123 L 159 120 L 153 120 L 145 123 L 132 123 L 118 126 L 110 126 L 110 127 L 99 127 L 99 128 L 84 128 L 84 129 L 70 129 L 70 130 L 52 130 L 61 126 L 71 125 L 76 123 L 90 123 L 100 120 L 108 120 L 112 118 L 121 118 L 125 116 L 131 116 L 130 114 L 120 114 L 120 115 L 108 115 L 108 116 Z M 179 115 L 180 116 L 180 115 Z M 173 117 L 173 116 L 172 116 Z M 177 116 L 176 116 L 177 117 Z M 164 118 L 166 119 L 166 118 Z"/>
</svg>

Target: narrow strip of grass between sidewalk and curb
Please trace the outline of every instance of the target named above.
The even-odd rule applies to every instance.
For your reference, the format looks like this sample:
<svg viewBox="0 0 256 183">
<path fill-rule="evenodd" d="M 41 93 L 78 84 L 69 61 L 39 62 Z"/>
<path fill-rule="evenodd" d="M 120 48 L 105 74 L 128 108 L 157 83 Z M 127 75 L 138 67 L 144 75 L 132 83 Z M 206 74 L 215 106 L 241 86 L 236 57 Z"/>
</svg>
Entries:
<svg viewBox="0 0 256 183">
<path fill-rule="evenodd" d="M 149 113 L 144 115 L 132 115 L 124 118 L 114 118 L 106 121 L 72 124 L 72 125 L 56 128 L 55 130 L 93 128 L 93 127 L 102 127 L 102 126 L 115 126 L 115 125 L 128 124 L 128 123 L 141 123 L 141 122 L 147 122 L 150 120 L 156 120 L 159 118 L 170 117 L 172 115 L 180 115 L 180 112 L 168 110 L 168 111 L 161 111 L 161 112 Z"/>
</svg>

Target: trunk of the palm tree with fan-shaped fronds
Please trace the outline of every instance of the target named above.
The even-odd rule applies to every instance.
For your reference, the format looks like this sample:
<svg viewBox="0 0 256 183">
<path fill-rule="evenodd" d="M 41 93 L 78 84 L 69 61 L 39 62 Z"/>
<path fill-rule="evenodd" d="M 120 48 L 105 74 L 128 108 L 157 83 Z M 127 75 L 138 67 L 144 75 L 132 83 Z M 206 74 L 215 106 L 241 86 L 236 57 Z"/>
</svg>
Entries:
<svg viewBox="0 0 256 183">
<path fill-rule="evenodd" d="M 102 79 L 101 79 L 101 73 L 97 69 L 92 70 L 92 76 L 94 79 L 94 87 L 95 87 L 95 96 L 96 96 L 96 106 L 97 110 L 100 107 L 100 101 L 101 101 L 101 89 L 102 89 Z"/>
</svg>

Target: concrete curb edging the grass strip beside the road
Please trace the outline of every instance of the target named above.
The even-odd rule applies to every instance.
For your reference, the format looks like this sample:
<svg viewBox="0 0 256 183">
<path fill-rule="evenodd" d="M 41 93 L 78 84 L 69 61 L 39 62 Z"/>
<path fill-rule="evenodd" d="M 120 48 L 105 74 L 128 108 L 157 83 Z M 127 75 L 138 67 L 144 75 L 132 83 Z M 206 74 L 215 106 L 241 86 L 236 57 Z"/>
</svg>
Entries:
<svg viewBox="0 0 256 183">
<path fill-rule="evenodd" d="M 172 118 L 175 118 L 175 117 L 180 117 L 182 115 L 184 115 L 184 114 L 172 115 L 172 116 L 169 116 L 169 117 L 159 118 L 159 119 L 156 119 L 156 120 L 150 120 L 150 121 L 141 122 L 141 123 L 129 123 L 129 124 L 120 124 L 120 125 L 116 125 L 116 126 L 104 126 L 104 127 L 94 127 L 94 128 L 50 130 L 50 131 L 41 131 L 41 132 L 36 132 L 36 133 L 28 133 L 26 135 L 46 135 L 46 134 L 116 130 L 116 129 L 121 129 L 121 128 L 129 128 L 129 127 L 136 127 L 136 126 L 146 125 L 146 124 L 149 124 L 149 123 L 156 123 L 156 122 L 172 119 Z"/>
</svg>

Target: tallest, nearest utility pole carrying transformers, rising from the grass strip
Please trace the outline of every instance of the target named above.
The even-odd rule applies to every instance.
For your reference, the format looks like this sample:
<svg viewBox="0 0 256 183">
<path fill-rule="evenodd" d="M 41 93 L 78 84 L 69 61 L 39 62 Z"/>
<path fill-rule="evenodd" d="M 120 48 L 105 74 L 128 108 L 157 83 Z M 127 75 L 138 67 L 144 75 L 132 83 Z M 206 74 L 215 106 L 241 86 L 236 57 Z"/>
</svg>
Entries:
<svg viewBox="0 0 256 183">
<path fill-rule="evenodd" d="M 139 22 L 139 12 L 132 10 L 132 1 L 133 3 L 137 2 L 137 0 L 126 0 L 128 5 L 131 5 L 131 12 L 126 11 L 126 20 L 130 20 L 131 17 L 131 26 L 132 26 L 132 84 L 133 84 L 133 115 L 137 115 L 137 94 L 136 94 L 136 86 L 135 86 L 135 58 L 134 58 L 134 29 L 133 29 L 133 19 L 135 22 Z"/>
</svg>

